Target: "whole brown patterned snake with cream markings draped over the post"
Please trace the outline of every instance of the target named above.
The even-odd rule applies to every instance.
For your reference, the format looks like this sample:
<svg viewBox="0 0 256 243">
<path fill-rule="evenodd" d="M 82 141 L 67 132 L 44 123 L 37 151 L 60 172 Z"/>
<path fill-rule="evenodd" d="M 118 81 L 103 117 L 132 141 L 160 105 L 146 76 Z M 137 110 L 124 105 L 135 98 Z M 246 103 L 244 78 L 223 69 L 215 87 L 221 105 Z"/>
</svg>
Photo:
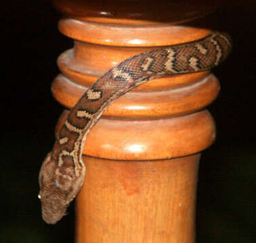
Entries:
<svg viewBox="0 0 256 243">
<path fill-rule="evenodd" d="M 70 110 L 54 148 L 41 166 L 43 219 L 47 223 L 59 221 L 81 190 L 85 139 L 108 105 L 153 78 L 210 70 L 226 59 L 230 50 L 230 37 L 212 32 L 197 41 L 135 55 L 99 78 Z"/>
</svg>

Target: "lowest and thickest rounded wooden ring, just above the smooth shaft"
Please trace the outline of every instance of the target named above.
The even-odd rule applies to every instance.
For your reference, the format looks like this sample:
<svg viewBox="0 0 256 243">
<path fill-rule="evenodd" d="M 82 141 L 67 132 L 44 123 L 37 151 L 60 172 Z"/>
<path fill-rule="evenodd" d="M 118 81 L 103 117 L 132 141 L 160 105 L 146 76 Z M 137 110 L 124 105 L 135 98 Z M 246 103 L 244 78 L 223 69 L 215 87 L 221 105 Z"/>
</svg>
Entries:
<svg viewBox="0 0 256 243">
<path fill-rule="evenodd" d="M 198 153 L 214 140 L 215 124 L 206 110 L 171 119 L 102 118 L 87 136 L 83 153 L 105 159 L 168 159 Z"/>
</svg>

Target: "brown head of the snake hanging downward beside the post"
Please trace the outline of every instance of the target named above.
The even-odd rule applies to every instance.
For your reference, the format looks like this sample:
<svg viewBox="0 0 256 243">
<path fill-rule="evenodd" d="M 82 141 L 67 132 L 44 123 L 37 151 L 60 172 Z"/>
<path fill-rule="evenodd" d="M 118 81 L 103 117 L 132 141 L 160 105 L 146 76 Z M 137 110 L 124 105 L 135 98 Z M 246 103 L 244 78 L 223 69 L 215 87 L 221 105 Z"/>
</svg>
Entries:
<svg viewBox="0 0 256 243">
<path fill-rule="evenodd" d="M 39 173 L 39 199 L 42 216 L 46 223 L 57 223 L 66 214 L 70 202 L 83 186 L 83 176 L 76 176 L 74 166 L 58 163 L 52 153 L 48 153 Z"/>
</svg>

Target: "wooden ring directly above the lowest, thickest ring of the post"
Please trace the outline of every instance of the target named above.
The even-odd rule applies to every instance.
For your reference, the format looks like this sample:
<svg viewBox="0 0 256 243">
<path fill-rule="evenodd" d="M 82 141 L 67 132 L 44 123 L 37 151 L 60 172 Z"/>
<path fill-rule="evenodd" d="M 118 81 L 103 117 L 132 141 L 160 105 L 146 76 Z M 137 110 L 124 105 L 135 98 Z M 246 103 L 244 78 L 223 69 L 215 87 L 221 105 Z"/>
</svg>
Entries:
<svg viewBox="0 0 256 243">
<path fill-rule="evenodd" d="M 192 79 L 192 76 L 197 78 L 202 75 L 200 73 L 196 75 L 190 74 L 188 75 L 188 82 Z M 176 80 L 176 77 L 173 77 L 173 79 Z M 159 82 L 162 81 L 158 80 Z M 152 83 L 155 82 L 154 85 L 156 86 L 158 80 L 153 80 Z M 163 82 L 165 80 L 163 79 Z M 186 82 L 185 77 L 183 81 Z M 184 115 L 206 107 L 217 97 L 219 92 L 219 82 L 213 74 L 198 82 L 194 81 L 187 86 L 171 89 L 165 88 L 165 90 L 157 90 L 158 87 L 156 86 L 156 90 L 151 92 L 145 89 L 143 89 L 144 92 L 128 92 L 123 97 L 114 101 L 104 112 L 103 116 L 119 118 L 151 117 L 156 119 Z M 163 87 L 160 86 L 160 88 Z M 54 80 L 51 90 L 54 97 L 62 105 L 70 108 L 77 103 L 81 95 L 86 91 L 86 88 L 70 83 L 64 76 L 58 76 Z"/>
</svg>

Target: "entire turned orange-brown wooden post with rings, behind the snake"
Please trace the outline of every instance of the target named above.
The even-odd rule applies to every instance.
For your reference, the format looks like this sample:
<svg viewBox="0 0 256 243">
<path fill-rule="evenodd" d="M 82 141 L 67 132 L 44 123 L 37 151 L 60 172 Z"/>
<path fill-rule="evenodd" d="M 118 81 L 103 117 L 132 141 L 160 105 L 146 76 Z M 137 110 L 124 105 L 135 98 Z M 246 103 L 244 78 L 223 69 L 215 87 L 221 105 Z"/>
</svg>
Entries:
<svg viewBox="0 0 256 243">
<path fill-rule="evenodd" d="M 124 59 L 211 32 L 192 21 L 205 22 L 213 4 L 175 2 L 55 1 L 64 14 L 60 32 L 74 39 L 58 59 L 56 100 L 69 109 Z M 218 91 L 210 72 L 158 78 L 109 107 L 83 151 L 87 171 L 77 198 L 77 243 L 194 242 L 200 151 L 215 139 L 205 107 Z"/>
</svg>

